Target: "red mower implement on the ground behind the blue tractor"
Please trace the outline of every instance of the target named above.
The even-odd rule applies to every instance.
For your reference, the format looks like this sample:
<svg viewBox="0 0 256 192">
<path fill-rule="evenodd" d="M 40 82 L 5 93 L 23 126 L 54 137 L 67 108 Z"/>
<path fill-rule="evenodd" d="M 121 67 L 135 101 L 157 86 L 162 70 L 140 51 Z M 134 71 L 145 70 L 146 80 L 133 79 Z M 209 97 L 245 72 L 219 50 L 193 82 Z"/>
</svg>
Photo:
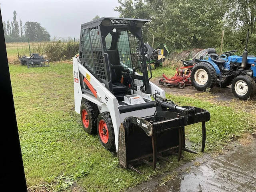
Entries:
<svg viewBox="0 0 256 192">
<path fill-rule="evenodd" d="M 181 68 L 176 68 L 176 73 L 172 78 L 168 78 L 163 73 L 163 78 L 159 80 L 159 84 L 163 85 L 164 83 L 170 84 L 172 86 L 178 86 L 179 88 L 184 88 L 186 85 L 192 85 L 190 80 L 191 68 L 193 66 L 186 66 Z"/>
</svg>

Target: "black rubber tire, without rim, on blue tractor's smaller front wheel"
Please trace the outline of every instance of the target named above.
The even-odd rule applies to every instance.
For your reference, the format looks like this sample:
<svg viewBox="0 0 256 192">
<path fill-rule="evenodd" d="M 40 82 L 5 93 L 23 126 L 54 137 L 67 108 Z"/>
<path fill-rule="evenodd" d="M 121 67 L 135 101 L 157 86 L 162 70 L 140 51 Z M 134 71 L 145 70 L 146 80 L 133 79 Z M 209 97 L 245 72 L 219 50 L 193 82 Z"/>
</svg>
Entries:
<svg viewBox="0 0 256 192">
<path fill-rule="evenodd" d="M 235 90 L 235 85 L 236 85 L 236 82 L 238 82 L 238 80 L 243 80 L 248 86 L 248 91 L 243 96 L 237 94 L 236 90 Z M 242 100 L 247 100 L 249 98 L 252 98 L 252 96 L 254 96 L 256 94 L 256 83 L 255 83 L 254 79 L 251 78 L 250 76 L 239 75 L 232 82 L 232 92 L 236 98 L 239 98 Z"/>
</svg>

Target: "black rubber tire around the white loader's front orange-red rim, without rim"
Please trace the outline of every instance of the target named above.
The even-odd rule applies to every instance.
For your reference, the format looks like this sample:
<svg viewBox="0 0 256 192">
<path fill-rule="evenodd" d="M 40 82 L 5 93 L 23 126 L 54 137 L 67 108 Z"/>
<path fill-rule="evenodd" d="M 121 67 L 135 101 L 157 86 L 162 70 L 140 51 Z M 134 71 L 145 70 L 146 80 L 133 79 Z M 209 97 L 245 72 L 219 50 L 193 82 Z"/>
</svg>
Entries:
<svg viewBox="0 0 256 192">
<path fill-rule="evenodd" d="M 107 143 L 102 142 L 102 140 L 100 138 L 100 134 L 99 134 L 99 122 L 100 122 L 100 120 L 104 120 L 104 122 L 106 123 L 106 125 L 108 127 L 108 142 Z M 102 144 L 102 146 L 107 150 L 115 151 L 116 146 L 115 146 L 114 127 L 113 127 L 112 119 L 111 119 L 111 116 L 110 116 L 109 112 L 103 112 L 103 113 L 99 114 L 98 120 L 97 120 L 97 132 L 98 132 L 98 138 L 99 138 L 100 143 Z"/>
</svg>

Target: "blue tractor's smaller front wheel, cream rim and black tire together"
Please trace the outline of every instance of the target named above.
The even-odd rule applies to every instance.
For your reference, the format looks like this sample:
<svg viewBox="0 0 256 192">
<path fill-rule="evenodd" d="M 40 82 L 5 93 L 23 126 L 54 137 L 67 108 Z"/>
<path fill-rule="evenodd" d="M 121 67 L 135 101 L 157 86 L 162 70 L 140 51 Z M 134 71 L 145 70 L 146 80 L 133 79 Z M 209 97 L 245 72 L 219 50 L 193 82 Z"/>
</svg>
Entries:
<svg viewBox="0 0 256 192">
<path fill-rule="evenodd" d="M 232 92 L 236 98 L 248 100 L 256 94 L 256 83 L 247 75 L 239 75 L 232 82 Z"/>
</svg>

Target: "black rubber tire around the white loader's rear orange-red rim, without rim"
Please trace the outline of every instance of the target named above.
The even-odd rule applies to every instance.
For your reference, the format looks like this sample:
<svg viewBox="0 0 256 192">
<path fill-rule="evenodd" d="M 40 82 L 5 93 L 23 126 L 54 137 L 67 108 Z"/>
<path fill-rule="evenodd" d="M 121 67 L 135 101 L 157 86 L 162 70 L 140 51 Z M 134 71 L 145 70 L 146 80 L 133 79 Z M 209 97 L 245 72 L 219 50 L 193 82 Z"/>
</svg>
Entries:
<svg viewBox="0 0 256 192">
<path fill-rule="evenodd" d="M 83 122 L 83 110 L 86 110 L 88 114 L 88 120 L 89 125 L 88 128 L 86 128 L 84 122 Z M 89 101 L 82 102 L 81 108 L 80 108 L 80 116 L 82 121 L 82 126 L 84 130 L 88 134 L 96 134 L 97 133 L 97 118 L 98 118 L 99 112 L 97 106 Z"/>
</svg>

